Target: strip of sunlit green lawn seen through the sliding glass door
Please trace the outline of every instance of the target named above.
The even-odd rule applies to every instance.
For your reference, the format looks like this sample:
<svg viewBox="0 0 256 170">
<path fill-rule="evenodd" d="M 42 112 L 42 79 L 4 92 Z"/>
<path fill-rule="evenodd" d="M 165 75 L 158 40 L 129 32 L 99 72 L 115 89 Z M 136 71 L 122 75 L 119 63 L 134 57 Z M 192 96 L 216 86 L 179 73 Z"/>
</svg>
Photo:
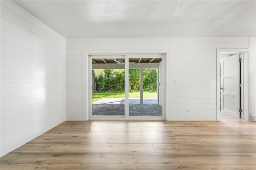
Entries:
<svg viewBox="0 0 256 170">
<path fill-rule="evenodd" d="M 124 98 L 124 92 L 93 93 L 92 102 L 101 98 Z M 140 92 L 129 92 L 129 98 L 140 98 Z M 143 98 L 157 98 L 157 92 L 143 92 Z"/>
</svg>

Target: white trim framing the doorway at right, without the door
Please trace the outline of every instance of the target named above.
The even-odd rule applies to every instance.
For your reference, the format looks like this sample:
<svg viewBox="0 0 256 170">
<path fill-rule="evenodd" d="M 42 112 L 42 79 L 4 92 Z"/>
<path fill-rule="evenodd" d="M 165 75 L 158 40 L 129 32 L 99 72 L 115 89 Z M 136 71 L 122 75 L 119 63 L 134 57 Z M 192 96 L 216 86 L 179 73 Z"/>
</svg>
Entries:
<svg viewBox="0 0 256 170">
<path fill-rule="evenodd" d="M 220 120 L 220 54 L 221 53 L 245 53 L 250 51 L 250 49 L 217 49 L 216 50 L 216 120 Z M 243 96 L 241 96 L 242 104 L 243 104 L 243 117 L 245 120 L 248 120 L 248 55 L 244 55 L 243 57 Z M 246 88 L 247 87 L 247 88 Z"/>
</svg>

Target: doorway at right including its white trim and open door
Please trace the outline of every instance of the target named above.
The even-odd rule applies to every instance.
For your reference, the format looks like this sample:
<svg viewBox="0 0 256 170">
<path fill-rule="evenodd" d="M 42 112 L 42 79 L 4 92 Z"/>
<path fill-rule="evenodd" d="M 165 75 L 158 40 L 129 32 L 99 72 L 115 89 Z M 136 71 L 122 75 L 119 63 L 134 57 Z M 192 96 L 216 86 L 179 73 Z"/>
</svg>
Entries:
<svg viewBox="0 0 256 170">
<path fill-rule="evenodd" d="M 217 64 L 216 120 L 220 120 L 220 114 L 246 119 L 248 117 L 248 51 L 219 49 L 217 61 L 220 64 Z"/>
</svg>

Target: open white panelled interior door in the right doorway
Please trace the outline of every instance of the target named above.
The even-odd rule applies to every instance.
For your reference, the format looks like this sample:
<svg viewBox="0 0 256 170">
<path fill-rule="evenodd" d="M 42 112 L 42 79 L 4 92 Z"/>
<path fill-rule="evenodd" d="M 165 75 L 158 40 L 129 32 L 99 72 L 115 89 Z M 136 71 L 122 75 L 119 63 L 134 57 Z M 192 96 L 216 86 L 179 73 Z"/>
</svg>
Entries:
<svg viewBox="0 0 256 170">
<path fill-rule="evenodd" d="M 221 61 L 221 112 L 240 118 L 240 63 L 239 54 Z"/>
</svg>

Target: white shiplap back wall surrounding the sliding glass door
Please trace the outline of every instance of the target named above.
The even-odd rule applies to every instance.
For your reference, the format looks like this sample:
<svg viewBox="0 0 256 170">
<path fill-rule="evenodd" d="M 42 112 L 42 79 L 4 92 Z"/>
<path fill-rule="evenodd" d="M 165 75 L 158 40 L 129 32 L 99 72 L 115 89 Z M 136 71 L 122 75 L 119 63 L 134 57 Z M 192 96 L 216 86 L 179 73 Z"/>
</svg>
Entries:
<svg viewBox="0 0 256 170">
<path fill-rule="evenodd" d="M 170 49 L 171 120 L 216 120 L 216 49 L 220 48 L 247 49 L 248 38 L 68 38 L 66 118 L 83 119 L 83 50 Z"/>
</svg>

